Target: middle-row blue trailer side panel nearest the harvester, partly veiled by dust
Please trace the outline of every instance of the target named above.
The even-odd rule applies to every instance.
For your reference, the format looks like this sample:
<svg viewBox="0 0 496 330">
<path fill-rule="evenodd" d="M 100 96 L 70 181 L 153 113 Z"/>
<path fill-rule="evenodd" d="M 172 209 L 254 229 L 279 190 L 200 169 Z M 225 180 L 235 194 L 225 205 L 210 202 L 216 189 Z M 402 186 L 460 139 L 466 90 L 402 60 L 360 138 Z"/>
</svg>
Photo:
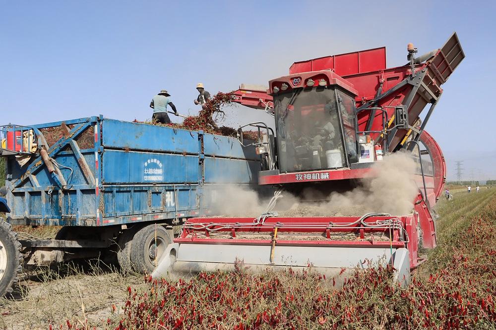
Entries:
<svg viewBox="0 0 496 330">
<path fill-rule="evenodd" d="M 257 184 L 260 162 L 205 157 L 205 183 Z"/>
</svg>

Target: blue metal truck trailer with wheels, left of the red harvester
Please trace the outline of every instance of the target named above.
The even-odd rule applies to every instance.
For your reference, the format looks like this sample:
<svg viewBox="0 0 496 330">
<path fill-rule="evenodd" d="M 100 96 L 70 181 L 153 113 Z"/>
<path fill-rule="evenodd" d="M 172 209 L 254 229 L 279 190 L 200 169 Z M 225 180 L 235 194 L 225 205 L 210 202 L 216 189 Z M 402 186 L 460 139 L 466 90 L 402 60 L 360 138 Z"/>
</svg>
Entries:
<svg viewBox="0 0 496 330">
<path fill-rule="evenodd" d="M 0 226 L 0 293 L 26 265 L 114 251 L 151 272 L 175 226 L 208 214 L 212 191 L 257 188 L 261 158 L 237 138 L 94 116 L 0 128 L 9 213 Z M 11 225 L 63 226 L 17 239 Z"/>
</svg>

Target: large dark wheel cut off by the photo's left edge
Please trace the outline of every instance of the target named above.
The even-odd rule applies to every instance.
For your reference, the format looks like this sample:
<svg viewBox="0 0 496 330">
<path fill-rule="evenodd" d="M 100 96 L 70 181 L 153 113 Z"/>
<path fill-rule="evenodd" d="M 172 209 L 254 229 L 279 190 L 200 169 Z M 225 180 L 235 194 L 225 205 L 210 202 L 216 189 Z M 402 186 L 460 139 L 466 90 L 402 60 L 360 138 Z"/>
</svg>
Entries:
<svg viewBox="0 0 496 330">
<path fill-rule="evenodd" d="M 21 243 L 17 233 L 10 224 L 0 221 L 0 296 L 12 292 L 21 270 Z"/>
</svg>

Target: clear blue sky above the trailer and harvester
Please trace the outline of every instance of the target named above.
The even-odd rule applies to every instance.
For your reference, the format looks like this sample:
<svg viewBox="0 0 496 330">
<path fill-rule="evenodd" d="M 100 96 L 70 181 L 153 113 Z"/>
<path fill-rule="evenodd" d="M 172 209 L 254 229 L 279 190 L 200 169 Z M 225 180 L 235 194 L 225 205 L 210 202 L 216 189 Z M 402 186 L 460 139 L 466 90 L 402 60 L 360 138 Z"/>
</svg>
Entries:
<svg viewBox="0 0 496 330">
<path fill-rule="evenodd" d="M 143 120 L 161 89 L 181 113 L 196 113 L 197 82 L 212 94 L 266 85 L 294 61 L 380 46 L 398 66 L 407 43 L 424 53 L 456 31 L 466 58 L 427 130 L 448 179 L 455 160 L 465 161 L 464 179 L 496 179 L 496 1 L 0 0 L 0 8 L 1 122 L 17 124 L 95 114 Z M 229 113 L 229 125 L 270 121 L 242 106 Z"/>
</svg>

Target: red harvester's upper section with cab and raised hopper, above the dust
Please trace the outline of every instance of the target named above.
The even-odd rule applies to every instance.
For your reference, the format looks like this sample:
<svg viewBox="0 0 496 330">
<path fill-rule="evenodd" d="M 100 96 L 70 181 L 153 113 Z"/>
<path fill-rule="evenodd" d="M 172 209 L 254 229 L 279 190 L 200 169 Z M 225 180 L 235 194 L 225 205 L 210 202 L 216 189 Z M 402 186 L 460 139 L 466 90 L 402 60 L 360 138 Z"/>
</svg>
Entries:
<svg viewBox="0 0 496 330">
<path fill-rule="evenodd" d="M 259 184 L 363 178 L 383 154 L 417 149 L 420 158 L 420 141 L 432 158 L 424 159 L 432 163 L 426 170 L 437 169 L 434 205 L 445 170 L 425 127 L 442 94 L 440 85 L 465 55 L 455 33 L 443 47 L 419 57 L 412 44 L 407 50 L 408 63 L 401 67 L 386 68 L 380 47 L 295 62 L 265 93 L 242 85 L 235 102 L 275 118 L 275 142 L 265 148 L 273 150 L 268 158 L 274 166 L 260 171 Z"/>
</svg>

